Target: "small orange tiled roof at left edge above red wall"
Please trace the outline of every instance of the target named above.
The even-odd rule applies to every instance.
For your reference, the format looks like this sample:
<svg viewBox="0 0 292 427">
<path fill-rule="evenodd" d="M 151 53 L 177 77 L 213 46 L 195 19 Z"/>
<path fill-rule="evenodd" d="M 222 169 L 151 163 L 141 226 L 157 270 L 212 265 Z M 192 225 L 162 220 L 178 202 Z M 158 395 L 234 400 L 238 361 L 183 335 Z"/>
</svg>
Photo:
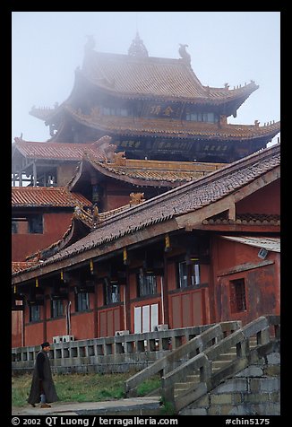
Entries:
<svg viewBox="0 0 292 427">
<path fill-rule="evenodd" d="M 74 207 L 90 206 L 91 202 L 66 187 L 12 187 L 13 207 Z"/>
</svg>

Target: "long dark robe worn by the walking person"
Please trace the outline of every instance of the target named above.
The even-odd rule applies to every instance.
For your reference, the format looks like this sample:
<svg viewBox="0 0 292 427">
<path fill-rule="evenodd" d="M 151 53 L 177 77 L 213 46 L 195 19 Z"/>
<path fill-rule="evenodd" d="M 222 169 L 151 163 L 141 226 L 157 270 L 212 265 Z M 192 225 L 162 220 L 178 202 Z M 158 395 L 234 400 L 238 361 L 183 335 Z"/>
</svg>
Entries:
<svg viewBox="0 0 292 427">
<path fill-rule="evenodd" d="M 47 353 L 44 350 L 41 350 L 41 352 L 37 354 L 37 359 L 32 374 L 30 396 L 28 398 L 29 404 L 38 404 L 40 402 L 41 394 L 46 395 L 47 403 L 56 402 L 59 400 L 59 397 L 56 394 L 56 388 L 52 377 L 49 359 L 47 357 Z"/>
</svg>

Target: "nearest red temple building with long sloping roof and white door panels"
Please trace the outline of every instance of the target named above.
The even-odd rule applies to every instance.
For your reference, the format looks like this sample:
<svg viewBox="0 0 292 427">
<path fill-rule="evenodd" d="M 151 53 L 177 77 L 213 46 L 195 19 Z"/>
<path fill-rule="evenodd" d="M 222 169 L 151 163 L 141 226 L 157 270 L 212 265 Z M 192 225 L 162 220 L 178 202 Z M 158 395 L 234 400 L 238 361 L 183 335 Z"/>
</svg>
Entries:
<svg viewBox="0 0 292 427">
<path fill-rule="evenodd" d="M 13 273 L 22 345 L 279 314 L 279 156 L 273 145 L 91 223 L 81 209 L 85 236 Z"/>
</svg>

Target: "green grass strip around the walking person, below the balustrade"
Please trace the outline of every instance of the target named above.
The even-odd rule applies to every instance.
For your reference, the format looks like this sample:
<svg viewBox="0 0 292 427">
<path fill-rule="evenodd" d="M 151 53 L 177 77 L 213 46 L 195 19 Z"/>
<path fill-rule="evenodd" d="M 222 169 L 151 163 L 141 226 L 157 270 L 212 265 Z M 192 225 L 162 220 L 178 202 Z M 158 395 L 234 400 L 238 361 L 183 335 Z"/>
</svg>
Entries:
<svg viewBox="0 0 292 427">
<path fill-rule="evenodd" d="M 125 380 L 133 372 L 113 374 L 58 374 L 54 375 L 56 392 L 61 402 L 102 402 L 125 397 Z M 32 375 L 13 376 L 12 404 L 27 405 Z M 144 381 L 138 388 L 138 396 L 145 396 L 159 387 L 159 379 Z"/>
</svg>

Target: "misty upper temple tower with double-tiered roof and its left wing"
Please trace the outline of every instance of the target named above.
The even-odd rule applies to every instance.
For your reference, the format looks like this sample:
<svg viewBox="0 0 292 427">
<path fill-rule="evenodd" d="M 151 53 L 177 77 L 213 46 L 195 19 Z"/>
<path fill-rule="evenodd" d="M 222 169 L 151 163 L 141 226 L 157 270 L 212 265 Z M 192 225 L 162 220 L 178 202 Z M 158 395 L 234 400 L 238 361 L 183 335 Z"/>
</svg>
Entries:
<svg viewBox="0 0 292 427">
<path fill-rule="evenodd" d="M 264 148 L 279 122 L 228 124 L 259 86 L 204 86 L 185 46 L 178 58 L 150 57 L 137 34 L 128 55 L 121 55 L 95 51 L 91 39 L 68 99 L 30 111 L 49 126 L 51 138 L 46 144 L 15 138 L 14 185 L 23 179 L 64 185 L 82 150 L 92 151 L 104 136 L 133 160 L 228 163 Z"/>
</svg>

